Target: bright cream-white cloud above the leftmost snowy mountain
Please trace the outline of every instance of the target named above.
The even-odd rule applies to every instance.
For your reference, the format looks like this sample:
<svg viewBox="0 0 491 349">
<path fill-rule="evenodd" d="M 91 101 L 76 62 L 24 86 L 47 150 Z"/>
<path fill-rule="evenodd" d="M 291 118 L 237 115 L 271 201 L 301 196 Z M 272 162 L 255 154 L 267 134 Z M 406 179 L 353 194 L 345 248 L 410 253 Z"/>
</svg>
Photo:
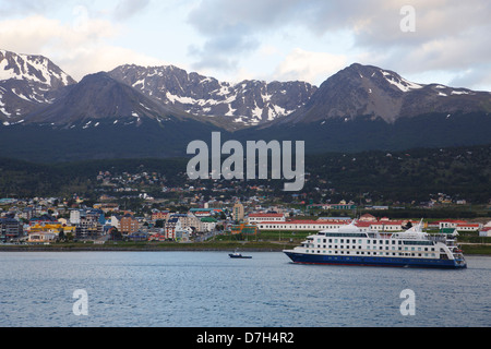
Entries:
<svg viewBox="0 0 491 349">
<path fill-rule="evenodd" d="M 112 23 L 89 19 L 82 9 L 74 9 L 74 21 L 68 24 L 43 15 L 0 21 L 2 48 L 48 57 L 77 81 L 86 74 L 108 71 L 124 63 L 164 63 L 131 49 L 108 44 L 108 39 L 120 33 Z"/>
</svg>

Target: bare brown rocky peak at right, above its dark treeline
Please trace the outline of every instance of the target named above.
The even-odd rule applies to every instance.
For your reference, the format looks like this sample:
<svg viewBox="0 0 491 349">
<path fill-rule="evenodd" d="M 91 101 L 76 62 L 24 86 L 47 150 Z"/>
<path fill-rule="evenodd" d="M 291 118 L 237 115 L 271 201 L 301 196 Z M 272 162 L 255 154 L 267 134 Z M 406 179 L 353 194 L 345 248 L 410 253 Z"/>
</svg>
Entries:
<svg viewBox="0 0 491 349">
<path fill-rule="evenodd" d="M 396 119 L 431 112 L 491 111 L 491 93 L 418 84 L 374 65 L 354 63 L 328 77 L 299 110 L 273 123 L 346 121 L 360 116 Z"/>
</svg>

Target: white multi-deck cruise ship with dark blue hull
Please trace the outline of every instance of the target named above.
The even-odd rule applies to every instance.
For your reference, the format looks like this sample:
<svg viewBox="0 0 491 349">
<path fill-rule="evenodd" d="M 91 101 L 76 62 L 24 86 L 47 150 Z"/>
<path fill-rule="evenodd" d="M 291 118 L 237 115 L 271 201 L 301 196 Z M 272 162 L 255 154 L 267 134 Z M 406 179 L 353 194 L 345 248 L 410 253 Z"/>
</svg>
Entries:
<svg viewBox="0 0 491 349">
<path fill-rule="evenodd" d="M 422 220 L 399 232 L 363 231 L 349 225 L 309 236 L 300 246 L 284 250 L 294 263 L 393 267 L 465 268 L 454 236 L 429 234 Z"/>
</svg>

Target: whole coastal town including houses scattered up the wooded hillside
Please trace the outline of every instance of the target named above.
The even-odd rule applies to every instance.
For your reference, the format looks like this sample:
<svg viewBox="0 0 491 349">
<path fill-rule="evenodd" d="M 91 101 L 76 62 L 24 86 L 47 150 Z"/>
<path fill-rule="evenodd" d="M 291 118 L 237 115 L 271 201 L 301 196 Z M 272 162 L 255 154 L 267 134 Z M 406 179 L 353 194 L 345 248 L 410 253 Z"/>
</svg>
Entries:
<svg viewBox="0 0 491 349">
<path fill-rule="evenodd" d="M 390 161 L 391 157 L 381 160 Z M 427 231 L 457 232 L 460 241 L 486 244 L 480 251 L 489 251 L 491 201 L 487 192 L 481 203 L 438 191 L 412 198 L 411 192 L 398 201 L 387 197 L 388 192 L 340 189 L 339 183 L 335 186 L 324 180 L 321 172 L 306 172 L 304 190 L 285 192 L 283 183 L 273 179 L 189 180 L 181 166 L 185 163 L 93 163 L 95 166 L 87 169 L 74 168 L 73 180 L 62 194 L 0 198 L 0 243 L 107 246 L 254 241 L 258 246 L 267 241 L 275 244 L 265 248 L 280 250 L 286 243 L 301 242 L 310 233 L 338 228 L 352 219 L 363 229 L 395 232 L 424 218 Z M 67 184 L 68 174 L 56 176 L 63 171 L 70 173 L 67 169 L 46 171 L 48 174 L 33 183 L 41 186 L 49 181 L 60 188 Z M 36 177 L 34 171 L 27 173 Z M 77 177 L 81 173 L 85 177 Z M 19 193 L 20 188 L 4 186 L 3 195 Z"/>
</svg>

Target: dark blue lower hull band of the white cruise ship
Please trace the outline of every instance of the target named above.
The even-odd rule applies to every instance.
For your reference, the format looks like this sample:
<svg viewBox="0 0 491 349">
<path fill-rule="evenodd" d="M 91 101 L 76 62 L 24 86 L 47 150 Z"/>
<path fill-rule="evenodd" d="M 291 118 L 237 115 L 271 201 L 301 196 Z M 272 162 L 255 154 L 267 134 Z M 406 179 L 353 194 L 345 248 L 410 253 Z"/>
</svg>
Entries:
<svg viewBox="0 0 491 349">
<path fill-rule="evenodd" d="M 393 266 L 393 267 L 427 267 L 427 268 L 464 268 L 466 264 L 458 265 L 450 260 L 422 260 L 400 257 L 375 257 L 375 256 L 342 256 L 304 254 L 285 252 L 294 263 L 299 264 L 340 264 L 340 265 L 367 265 L 367 266 Z"/>
</svg>

